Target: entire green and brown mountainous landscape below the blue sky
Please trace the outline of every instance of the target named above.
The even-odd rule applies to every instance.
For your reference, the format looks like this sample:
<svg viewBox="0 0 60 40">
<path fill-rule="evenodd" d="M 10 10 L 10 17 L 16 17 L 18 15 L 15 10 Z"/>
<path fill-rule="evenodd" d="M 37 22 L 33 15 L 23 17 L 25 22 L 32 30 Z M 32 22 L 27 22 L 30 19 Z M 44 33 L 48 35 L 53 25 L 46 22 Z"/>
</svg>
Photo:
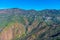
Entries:
<svg viewBox="0 0 60 40">
<path fill-rule="evenodd" d="M 0 10 L 0 40 L 60 40 L 60 10 Z"/>
</svg>

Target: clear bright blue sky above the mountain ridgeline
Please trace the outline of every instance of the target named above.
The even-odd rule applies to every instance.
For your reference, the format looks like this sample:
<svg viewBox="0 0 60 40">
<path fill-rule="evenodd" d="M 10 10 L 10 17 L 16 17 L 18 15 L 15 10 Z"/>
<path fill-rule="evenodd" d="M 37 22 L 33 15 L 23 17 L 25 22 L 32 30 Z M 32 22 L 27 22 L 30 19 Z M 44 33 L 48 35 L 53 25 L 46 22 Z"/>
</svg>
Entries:
<svg viewBox="0 0 60 40">
<path fill-rule="evenodd" d="M 60 9 L 60 0 L 0 0 L 0 9 Z"/>
</svg>

